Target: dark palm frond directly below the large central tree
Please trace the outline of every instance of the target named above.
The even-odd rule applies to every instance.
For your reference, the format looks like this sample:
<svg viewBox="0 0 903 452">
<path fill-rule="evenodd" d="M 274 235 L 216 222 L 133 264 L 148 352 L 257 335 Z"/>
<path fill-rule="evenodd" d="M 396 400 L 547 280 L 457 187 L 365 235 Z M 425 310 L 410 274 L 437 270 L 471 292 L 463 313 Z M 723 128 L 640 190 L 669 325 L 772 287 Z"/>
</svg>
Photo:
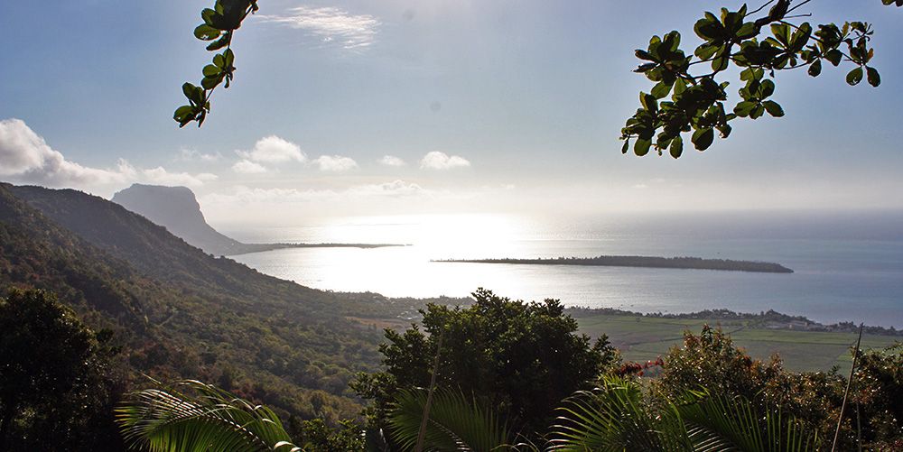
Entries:
<svg viewBox="0 0 903 452">
<path fill-rule="evenodd" d="M 403 450 L 413 450 L 417 443 L 426 399 L 423 390 L 401 391 L 389 411 L 389 433 Z M 426 424 L 426 450 L 498 450 L 507 447 L 509 440 L 507 425 L 492 410 L 484 409 L 461 392 L 433 394 Z"/>
</svg>

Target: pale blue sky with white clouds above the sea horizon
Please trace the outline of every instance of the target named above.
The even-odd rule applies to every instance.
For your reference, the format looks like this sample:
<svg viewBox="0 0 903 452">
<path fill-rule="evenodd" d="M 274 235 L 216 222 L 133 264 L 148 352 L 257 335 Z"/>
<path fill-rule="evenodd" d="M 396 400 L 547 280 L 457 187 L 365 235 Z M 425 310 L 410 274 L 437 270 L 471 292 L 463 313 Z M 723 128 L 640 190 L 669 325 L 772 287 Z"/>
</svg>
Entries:
<svg viewBox="0 0 903 452">
<path fill-rule="evenodd" d="M 778 73 L 787 116 L 738 120 L 679 160 L 620 152 L 652 85 L 633 52 L 671 30 L 690 50 L 703 11 L 739 2 L 261 0 L 200 129 L 172 111 L 212 57 L 192 34 L 212 1 L 0 3 L 0 180 L 13 183 L 105 198 L 183 185 L 212 223 L 248 225 L 903 209 L 903 8 L 880 0 L 804 6 L 813 23 L 874 23 L 880 88 L 831 67 Z"/>
</svg>

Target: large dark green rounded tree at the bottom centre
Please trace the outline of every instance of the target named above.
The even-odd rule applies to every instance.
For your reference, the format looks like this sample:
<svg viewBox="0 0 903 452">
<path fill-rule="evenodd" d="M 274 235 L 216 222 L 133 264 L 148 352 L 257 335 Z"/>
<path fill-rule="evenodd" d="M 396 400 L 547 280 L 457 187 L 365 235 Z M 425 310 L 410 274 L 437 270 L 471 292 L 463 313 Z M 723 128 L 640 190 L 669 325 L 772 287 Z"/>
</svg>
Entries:
<svg viewBox="0 0 903 452">
<path fill-rule="evenodd" d="M 576 320 L 558 300 L 525 303 L 482 289 L 473 298 L 467 308 L 428 305 L 421 311 L 423 330 L 386 329 L 387 343 L 380 346 L 386 371 L 352 384 L 374 400 L 376 427 L 384 427 L 401 389 L 429 385 L 437 354 L 440 389 L 475 398 L 526 435 L 544 431 L 558 402 L 591 387 L 616 356 L 604 340 L 591 346 L 589 337 L 577 334 Z"/>
</svg>

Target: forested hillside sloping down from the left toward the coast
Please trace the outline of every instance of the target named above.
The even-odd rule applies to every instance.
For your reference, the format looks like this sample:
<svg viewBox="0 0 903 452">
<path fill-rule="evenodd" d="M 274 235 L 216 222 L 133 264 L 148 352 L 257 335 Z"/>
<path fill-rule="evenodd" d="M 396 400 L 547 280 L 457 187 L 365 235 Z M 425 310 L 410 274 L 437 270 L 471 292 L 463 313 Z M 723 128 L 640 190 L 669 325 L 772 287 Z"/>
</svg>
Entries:
<svg viewBox="0 0 903 452">
<path fill-rule="evenodd" d="M 103 198 L 0 183 L 0 289 L 57 292 L 88 323 L 116 327 L 135 371 L 199 378 L 304 417 L 353 416 L 348 382 L 378 362 L 385 313 L 214 258 Z M 380 312 L 382 310 L 382 312 Z"/>
</svg>

